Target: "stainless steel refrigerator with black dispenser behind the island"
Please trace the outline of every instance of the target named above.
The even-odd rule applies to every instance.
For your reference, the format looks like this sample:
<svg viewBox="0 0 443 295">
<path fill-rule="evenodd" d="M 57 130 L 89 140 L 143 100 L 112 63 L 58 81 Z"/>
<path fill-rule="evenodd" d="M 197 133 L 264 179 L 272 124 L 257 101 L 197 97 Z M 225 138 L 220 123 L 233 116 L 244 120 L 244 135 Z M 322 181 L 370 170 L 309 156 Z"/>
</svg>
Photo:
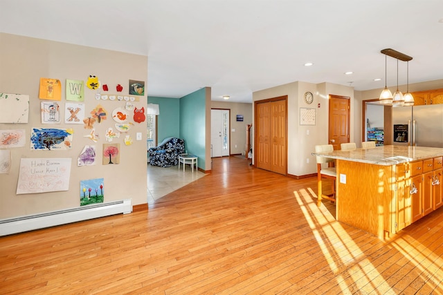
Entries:
<svg viewBox="0 0 443 295">
<path fill-rule="evenodd" d="M 392 124 L 393 144 L 443 147 L 443 104 L 392 108 Z"/>
</svg>

